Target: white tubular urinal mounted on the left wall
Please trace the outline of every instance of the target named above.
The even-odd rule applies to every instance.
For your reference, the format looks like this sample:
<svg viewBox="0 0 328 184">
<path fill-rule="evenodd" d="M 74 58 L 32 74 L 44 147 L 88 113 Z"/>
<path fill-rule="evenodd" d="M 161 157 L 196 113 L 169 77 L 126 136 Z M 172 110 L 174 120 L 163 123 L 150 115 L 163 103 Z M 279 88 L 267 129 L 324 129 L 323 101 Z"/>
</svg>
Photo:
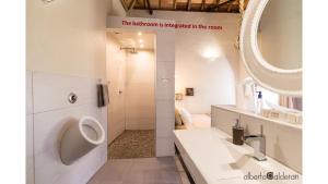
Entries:
<svg viewBox="0 0 328 184">
<path fill-rule="evenodd" d="M 93 116 L 83 116 L 65 132 L 60 142 L 60 159 L 67 165 L 72 164 L 104 140 L 102 124 Z"/>
</svg>

